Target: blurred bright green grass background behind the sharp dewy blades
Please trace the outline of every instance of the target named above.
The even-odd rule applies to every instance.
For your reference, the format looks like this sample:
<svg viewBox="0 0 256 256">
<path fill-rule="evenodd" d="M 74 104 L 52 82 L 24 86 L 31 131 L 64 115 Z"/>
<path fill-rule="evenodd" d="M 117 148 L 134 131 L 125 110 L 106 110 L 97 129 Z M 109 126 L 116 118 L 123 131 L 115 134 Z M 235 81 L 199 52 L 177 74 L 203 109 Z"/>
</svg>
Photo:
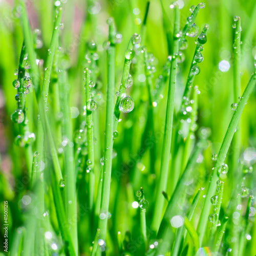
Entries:
<svg viewBox="0 0 256 256">
<path fill-rule="evenodd" d="M 30 195 L 28 168 L 24 148 L 15 144 L 15 138 L 19 134 L 18 126 L 11 119 L 11 113 L 16 109 L 16 92 L 12 82 L 16 79 L 14 70 L 18 68 L 19 55 L 23 45 L 23 32 L 20 24 L 20 5 L 17 1 L 1 1 L 0 3 L 0 146 L 1 146 L 1 179 L 0 179 L 0 197 L 1 202 L 9 202 L 9 244 L 13 243 L 13 235 L 19 226 L 23 226 L 26 216 L 26 205 L 23 203 L 25 195 Z M 59 1 L 57 1 L 59 2 Z M 55 5 L 58 3 L 55 2 Z M 88 42 L 94 40 L 97 44 L 97 54 L 95 62 L 97 69 L 95 81 L 97 82 L 97 93 L 95 101 L 98 108 L 94 112 L 94 127 L 97 127 L 94 133 L 95 137 L 95 176 L 100 177 L 100 158 L 103 156 L 104 149 L 104 130 L 105 130 L 105 92 L 106 92 L 106 63 L 107 56 L 104 50 L 104 42 L 108 40 L 109 28 L 106 19 L 113 17 L 117 30 L 122 34 L 122 42 L 116 47 L 116 91 L 118 91 L 123 71 L 124 54 L 131 36 L 134 33 L 141 33 L 141 24 L 146 8 L 146 1 L 138 0 L 110 0 L 110 1 L 61 1 L 63 3 L 63 30 L 60 31 L 59 46 L 64 53 L 61 59 L 61 66 L 67 69 L 68 83 L 65 90 L 69 93 L 69 103 L 71 106 L 72 131 L 80 129 L 83 120 L 85 105 L 85 93 L 83 82 L 83 68 L 88 65 L 90 52 L 88 51 Z M 189 7 L 197 5 L 197 1 L 181 1 L 184 4 L 181 9 L 181 27 L 186 23 L 189 16 Z M 57 4 L 56 4 L 57 3 Z M 162 1 L 166 14 L 173 26 L 173 11 L 169 8 L 168 1 Z M 255 22 L 256 5 L 253 1 L 206 1 L 206 7 L 200 10 L 196 24 L 200 31 L 205 24 L 209 25 L 207 32 L 207 43 L 204 46 L 204 60 L 199 64 L 200 74 L 195 77 L 194 85 L 197 85 L 198 95 L 198 127 L 210 128 L 210 145 L 198 160 L 198 175 L 191 178 L 191 184 L 184 191 L 184 204 L 181 210 L 186 210 L 193 200 L 198 188 L 207 186 L 207 182 L 214 163 L 211 160 L 212 154 L 218 154 L 222 140 L 226 133 L 233 111 L 230 109 L 233 100 L 233 41 L 234 29 L 232 28 L 233 17 L 241 17 L 241 40 L 242 61 L 241 61 L 241 85 L 242 92 L 253 71 L 253 61 L 256 54 L 255 40 Z M 53 31 L 53 20 L 55 17 L 54 2 L 46 1 L 28 1 L 27 10 L 30 24 L 33 30 L 40 29 L 41 35 L 35 39 L 35 48 L 37 59 L 46 61 L 48 49 Z M 148 94 L 145 86 L 144 76 L 138 76 L 136 69 L 143 71 L 143 67 L 136 66 L 135 60 L 132 63 L 131 74 L 133 77 L 133 86 L 127 89 L 126 93 L 133 97 L 135 101 L 134 110 L 129 114 L 121 113 L 122 119 L 118 124 L 118 138 L 114 140 L 114 155 L 112 165 L 112 183 L 110 195 L 111 218 L 108 221 L 109 232 L 107 234 L 109 255 L 117 255 L 117 233 L 121 232 L 122 240 L 129 244 L 131 255 L 142 255 L 143 247 L 139 239 L 140 229 L 140 211 L 136 208 L 137 201 L 134 192 L 141 186 L 145 191 L 145 198 L 149 206 L 146 209 L 146 221 L 148 230 L 150 230 L 155 200 L 156 182 L 159 179 L 161 152 L 163 141 L 163 127 L 165 121 L 165 110 L 167 100 L 167 86 L 162 84 L 158 88 L 158 77 L 163 75 L 163 67 L 168 57 L 168 47 L 165 31 L 162 25 L 162 8 L 159 0 L 150 1 L 150 10 L 148 12 L 145 37 L 142 38 L 147 51 L 154 54 L 153 61 L 156 67 L 154 73 L 154 126 L 159 136 L 156 139 L 156 159 L 154 166 L 151 166 L 150 152 L 147 150 L 142 158 L 138 156 L 142 133 L 144 130 L 147 112 L 148 112 Z M 173 27 L 170 28 L 173 31 Z M 176 92 L 175 92 L 175 113 L 177 114 L 183 90 L 186 83 L 190 63 L 196 48 L 195 38 L 187 38 L 188 48 L 184 50 L 185 60 L 179 65 Z M 41 45 L 42 44 L 42 45 Z M 103 46 L 102 46 L 103 45 Z M 90 60 L 91 61 L 91 60 Z M 90 62 L 89 61 L 89 62 Z M 224 61 L 224 62 L 223 62 Z M 44 66 L 45 68 L 45 66 Z M 42 66 L 41 66 L 41 69 Z M 225 72 L 224 72 L 225 71 Z M 63 165 L 63 138 L 61 137 L 62 114 L 58 102 L 58 90 L 54 86 L 57 80 L 57 67 L 53 67 L 49 96 L 48 108 L 49 119 L 52 127 L 54 142 L 58 151 L 60 165 Z M 255 148 L 256 145 L 256 93 L 255 89 L 248 100 L 248 104 L 241 119 L 242 148 L 241 154 L 246 148 Z M 237 99 L 238 103 L 238 99 Z M 26 96 L 26 106 L 28 109 L 29 130 L 36 133 L 37 129 L 37 109 L 35 108 L 35 97 L 32 93 Z M 178 115 L 178 114 L 177 114 Z M 152 143 L 150 140 L 148 143 Z M 33 152 L 36 150 L 35 143 L 32 145 Z M 86 151 L 86 149 L 84 150 Z M 248 151 L 248 150 L 247 150 Z M 224 179 L 224 196 L 222 201 L 223 209 L 221 216 L 231 198 L 232 177 L 236 170 L 232 170 L 231 155 L 234 152 L 232 145 L 229 149 L 226 163 L 229 165 L 228 178 Z M 255 150 L 254 158 L 255 162 Z M 86 153 L 84 153 L 86 154 Z M 80 156 L 81 157 L 81 156 Z M 87 159 L 86 156 L 83 156 Z M 139 160 L 137 160 L 139 159 Z M 77 159 L 76 159 L 77 160 Z M 254 163 L 252 162 L 252 163 Z M 44 163 L 40 163 L 44 164 Z M 133 166 L 136 165 L 136 166 Z M 131 172 L 131 169 L 133 172 Z M 133 174 L 133 175 L 132 175 Z M 136 174 L 136 175 L 135 175 Z M 80 178 L 79 178 L 80 177 Z M 87 178 L 84 172 L 81 176 L 78 174 L 78 240 L 79 251 L 82 255 L 90 254 L 90 247 L 95 238 L 97 221 L 91 217 L 91 209 L 88 204 L 88 187 L 85 185 Z M 172 177 L 168 178 L 169 184 L 172 184 Z M 255 195 L 255 174 L 248 174 L 244 181 L 246 186 L 251 188 L 250 193 Z M 46 187 L 46 191 L 50 189 Z M 97 187 L 95 188 L 97 191 Z M 167 194 L 172 195 L 174 187 L 168 185 Z M 202 191 L 202 195 L 205 190 Z M 56 221 L 54 206 L 52 206 L 51 194 L 48 193 L 45 200 L 46 212 L 52 212 L 51 228 L 56 232 L 56 243 L 61 248 L 61 242 Z M 95 195 L 96 200 L 97 195 Z M 253 201 L 254 203 L 254 201 Z M 203 197 L 199 201 L 195 215 L 200 215 L 200 207 L 203 204 Z M 244 202 L 241 203 L 244 205 Z M 137 206 L 138 207 L 138 206 Z M 1 212 L 3 207 L 1 207 Z M 255 213 L 255 210 L 254 210 Z M 48 213 L 46 213 L 48 215 Z M 198 218 L 195 217 L 195 220 Z M 2 224 L 3 218 L 0 220 Z M 251 217 L 250 240 L 247 241 L 243 255 L 254 255 L 256 249 L 253 246 L 256 243 L 256 226 L 253 224 L 254 217 Z M 90 223 L 91 222 L 91 223 Z M 90 223 L 90 224 L 89 224 Z M 197 223 L 194 223 L 197 224 Z M 2 226 L 2 225 L 1 225 Z M 130 233 L 126 231 L 130 230 Z M 2 230 L 1 230 L 2 232 Z M 223 251 L 226 251 L 232 241 L 232 234 L 225 234 Z M 3 237 L 1 237 L 2 243 Z M 1 248 L 2 250 L 2 248 Z M 127 251 L 127 253 L 129 252 Z M 61 249 L 60 249 L 61 251 Z M 48 251 L 48 253 L 50 253 Z M 44 254 L 42 254 L 44 255 Z M 48 255 L 48 254 L 45 254 Z M 126 255 L 126 254 L 123 254 Z M 206 254 L 207 255 L 207 254 Z M 225 255 L 225 254 L 224 254 Z M 227 254 L 229 255 L 229 254 Z M 236 255 L 236 254 L 233 254 Z"/>
</svg>

